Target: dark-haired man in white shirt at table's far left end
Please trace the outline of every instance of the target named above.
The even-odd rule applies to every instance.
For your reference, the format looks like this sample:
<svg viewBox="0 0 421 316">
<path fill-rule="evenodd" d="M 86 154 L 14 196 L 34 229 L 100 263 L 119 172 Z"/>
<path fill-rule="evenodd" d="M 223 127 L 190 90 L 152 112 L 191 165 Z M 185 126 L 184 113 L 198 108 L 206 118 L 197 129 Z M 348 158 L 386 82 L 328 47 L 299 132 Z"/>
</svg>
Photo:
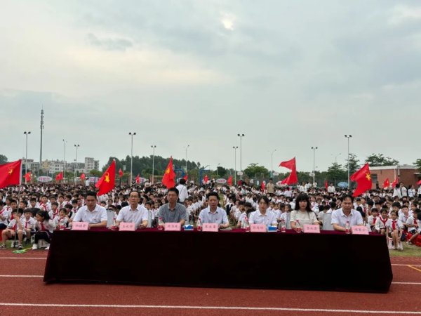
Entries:
<svg viewBox="0 0 421 316">
<path fill-rule="evenodd" d="M 107 227 L 107 210 L 97 204 L 96 192 L 86 193 L 86 205 L 82 206 L 73 218 L 73 222 L 88 222 L 89 228 Z"/>
</svg>

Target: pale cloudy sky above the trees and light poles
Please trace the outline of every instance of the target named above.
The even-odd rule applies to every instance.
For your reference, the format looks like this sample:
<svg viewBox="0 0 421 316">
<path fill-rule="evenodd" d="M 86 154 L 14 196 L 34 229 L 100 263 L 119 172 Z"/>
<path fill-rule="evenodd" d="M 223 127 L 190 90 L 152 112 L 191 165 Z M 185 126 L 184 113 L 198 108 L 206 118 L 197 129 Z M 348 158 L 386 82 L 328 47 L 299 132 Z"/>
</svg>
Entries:
<svg viewBox="0 0 421 316">
<path fill-rule="evenodd" d="M 236 169 L 326 170 L 350 152 L 412 164 L 420 1 L 4 0 L 0 154 L 155 153 Z M 276 151 L 274 151 L 276 150 Z M 272 159 L 273 158 L 273 159 Z M 273 161 L 273 164 L 272 164 Z"/>
</svg>

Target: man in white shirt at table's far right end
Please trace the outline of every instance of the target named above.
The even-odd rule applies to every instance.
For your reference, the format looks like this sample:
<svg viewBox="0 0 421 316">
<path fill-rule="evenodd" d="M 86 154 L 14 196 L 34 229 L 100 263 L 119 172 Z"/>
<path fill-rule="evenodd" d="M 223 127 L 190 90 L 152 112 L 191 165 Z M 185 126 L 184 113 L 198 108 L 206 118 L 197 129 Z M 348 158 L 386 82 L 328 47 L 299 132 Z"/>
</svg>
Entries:
<svg viewBox="0 0 421 316">
<path fill-rule="evenodd" d="M 345 225 L 349 222 L 349 226 L 363 225 L 363 216 L 359 211 L 352 209 L 354 197 L 345 195 L 342 197 L 342 208 L 332 212 L 332 225 L 335 230 L 345 232 Z"/>
</svg>

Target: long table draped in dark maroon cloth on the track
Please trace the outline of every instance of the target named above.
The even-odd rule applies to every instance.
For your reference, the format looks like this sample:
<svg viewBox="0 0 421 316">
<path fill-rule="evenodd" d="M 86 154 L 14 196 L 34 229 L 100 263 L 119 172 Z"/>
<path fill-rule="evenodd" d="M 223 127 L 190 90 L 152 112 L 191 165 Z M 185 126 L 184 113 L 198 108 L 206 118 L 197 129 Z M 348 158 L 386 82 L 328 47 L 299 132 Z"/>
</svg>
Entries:
<svg viewBox="0 0 421 316">
<path fill-rule="evenodd" d="M 384 236 L 287 232 L 58 230 L 44 282 L 386 293 Z"/>
</svg>

